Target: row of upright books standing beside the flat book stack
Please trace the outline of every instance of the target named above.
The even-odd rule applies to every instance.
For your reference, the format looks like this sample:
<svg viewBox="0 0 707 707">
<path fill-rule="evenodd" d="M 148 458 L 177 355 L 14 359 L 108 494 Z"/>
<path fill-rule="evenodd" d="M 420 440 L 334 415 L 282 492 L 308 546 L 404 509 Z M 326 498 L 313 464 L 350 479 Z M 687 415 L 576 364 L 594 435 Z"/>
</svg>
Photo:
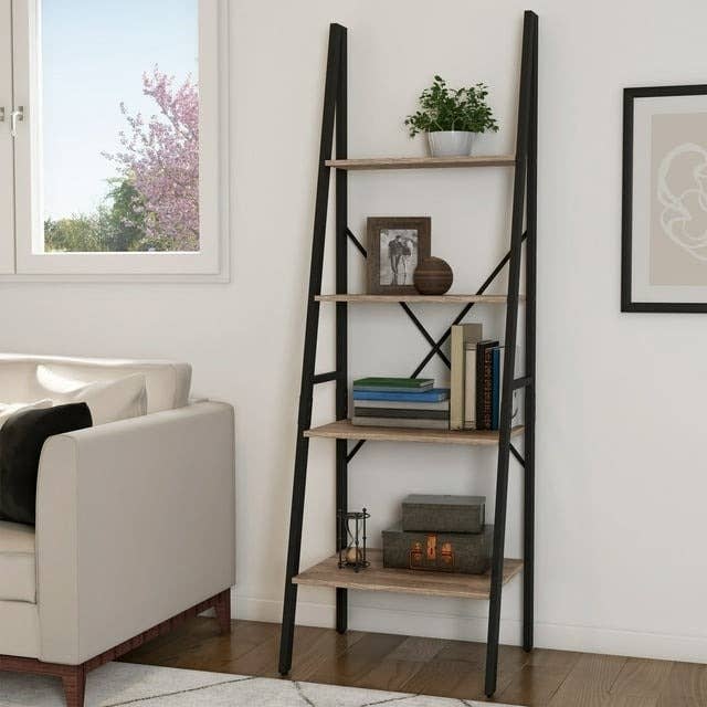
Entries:
<svg viewBox="0 0 707 707">
<path fill-rule="evenodd" d="M 481 324 L 452 327 L 451 430 L 498 430 L 504 376 L 504 345 L 484 339 Z M 516 371 L 523 368 L 516 350 Z M 513 424 L 520 424 L 521 391 L 513 394 Z"/>
</svg>

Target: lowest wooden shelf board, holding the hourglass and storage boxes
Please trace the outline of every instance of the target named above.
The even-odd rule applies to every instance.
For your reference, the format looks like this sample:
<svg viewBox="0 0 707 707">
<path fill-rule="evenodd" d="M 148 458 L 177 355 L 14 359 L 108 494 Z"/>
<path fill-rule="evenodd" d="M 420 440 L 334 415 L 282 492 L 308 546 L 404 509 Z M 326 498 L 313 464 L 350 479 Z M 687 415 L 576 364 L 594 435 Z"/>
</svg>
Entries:
<svg viewBox="0 0 707 707">
<path fill-rule="evenodd" d="M 486 574 L 456 574 L 425 572 L 419 570 L 391 570 L 383 567 L 382 550 L 368 550 L 370 567 L 359 572 L 338 567 L 338 557 L 333 556 L 292 581 L 312 587 L 340 587 L 363 591 L 401 592 L 428 597 L 461 597 L 463 599 L 488 599 L 490 572 Z M 504 560 L 504 584 L 523 569 L 521 560 Z"/>
</svg>

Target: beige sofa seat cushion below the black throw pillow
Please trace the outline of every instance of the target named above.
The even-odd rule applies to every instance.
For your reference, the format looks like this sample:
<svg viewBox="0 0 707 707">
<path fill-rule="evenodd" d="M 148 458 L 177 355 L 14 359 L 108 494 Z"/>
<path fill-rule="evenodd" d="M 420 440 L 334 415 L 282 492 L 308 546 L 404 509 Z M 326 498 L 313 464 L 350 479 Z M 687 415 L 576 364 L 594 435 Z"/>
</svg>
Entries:
<svg viewBox="0 0 707 707">
<path fill-rule="evenodd" d="M 36 601 L 32 526 L 0 520 L 0 601 Z"/>
</svg>

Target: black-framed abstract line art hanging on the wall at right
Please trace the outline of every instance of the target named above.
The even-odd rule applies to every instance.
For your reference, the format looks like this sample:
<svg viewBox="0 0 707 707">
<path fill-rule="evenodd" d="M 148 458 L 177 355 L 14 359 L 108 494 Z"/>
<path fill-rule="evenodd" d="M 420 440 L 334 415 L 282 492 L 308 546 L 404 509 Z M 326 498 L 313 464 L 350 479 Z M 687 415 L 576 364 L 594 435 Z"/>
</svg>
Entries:
<svg viewBox="0 0 707 707">
<path fill-rule="evenodd" d="M 707 85 L 625 88 L 622 312 L 707 313 Z"/>
</svg>

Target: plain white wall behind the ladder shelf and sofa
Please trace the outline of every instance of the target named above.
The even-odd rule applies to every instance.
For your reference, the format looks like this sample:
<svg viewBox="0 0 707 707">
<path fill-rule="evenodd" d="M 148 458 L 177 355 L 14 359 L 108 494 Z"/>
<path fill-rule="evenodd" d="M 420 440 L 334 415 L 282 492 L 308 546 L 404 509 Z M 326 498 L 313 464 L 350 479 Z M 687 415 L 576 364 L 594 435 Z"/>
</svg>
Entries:
<svg viewBox="0 0 707 707">
<path fill-rule="evenodd" d="M 232 283 L 2 286 L 3 349 L 183 359 L 198 392 L 236 405 L 242 618 L 277 621 L 281 612 L 328 22 L 350 29 L 352 155 L 422 152 L 401 122 L 433 73 L 493 86 L 503 129 L 479 145 L 493 152 L 513 147 L 524 8 L 233 0 Z M 707 4 L 537 0 L 534 9 L 537 643 L 707 661 L 705 319 L 619 312 L 621 89 L 704 82 Z M 452 263 L 457 292 L 476 287 L 506 247 L 503 170 L 355 175 L 350 183 L 361 235 L 369 214 L 432 215 L 433 251 Z M 362 286 L 360 267 L 351 279 Z M 443 331 L 439 309 L 421 316 Z M 499 331 L 490 317 L 489 331 Z M 426 352 L 394 307 L 357 309 L 351 319 L 354 374 L 405 373 Z M 329 321 L 319 370 L 331 344 Z M 325 420 L 330 394 L 323 390 L 320 401 Z M 303 563 L 331 550 L 333 450 L 312 444 Z M 494 460 L 487 451 L 369 444 L 351 466 L 351 506 L 371 509 L 376 537 L 409 492 L 493 496 Z M 517 468 L 511 478 L 514 552 Z M 519 588 L 505 594 L 507 642 L 518 640 Z M 300 600 L 299 621 L 331 624 L 331 592 L 303 590 Z M 351 603 L 354 627 L 484 637 L 487 606 L 478 602 L 354 594 Z"/>
</svg>

